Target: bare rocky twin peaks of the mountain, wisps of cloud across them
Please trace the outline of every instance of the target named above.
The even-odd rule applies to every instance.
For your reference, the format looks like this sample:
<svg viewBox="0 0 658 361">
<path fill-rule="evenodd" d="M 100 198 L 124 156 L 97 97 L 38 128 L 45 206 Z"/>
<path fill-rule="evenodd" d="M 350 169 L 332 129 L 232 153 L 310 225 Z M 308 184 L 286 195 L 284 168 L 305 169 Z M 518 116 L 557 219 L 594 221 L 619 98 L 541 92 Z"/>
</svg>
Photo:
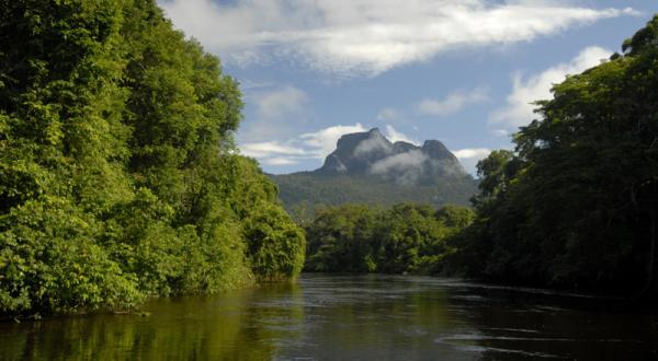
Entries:
<svg viewBox="0 0 658 361">
<path fill-rule="evenodd" d="M 469 177 L 443 143 L 422 147 L 392 143 L 377 128 L 341 137 L 317 175 L 370 175 L 405 185 L 432 183 L 439 177 Z"/>
</svg>

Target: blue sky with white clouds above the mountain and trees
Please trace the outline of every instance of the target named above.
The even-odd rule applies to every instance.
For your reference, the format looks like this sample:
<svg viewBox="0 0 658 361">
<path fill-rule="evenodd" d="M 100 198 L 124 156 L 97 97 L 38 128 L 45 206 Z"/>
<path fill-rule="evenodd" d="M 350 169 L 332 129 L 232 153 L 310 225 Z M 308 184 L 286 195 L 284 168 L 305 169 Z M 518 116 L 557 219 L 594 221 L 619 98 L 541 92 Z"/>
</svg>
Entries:
<svg viewBox="0 0 658 361">
<path fill-rule="evenodd" d="M 243 94 L 240 152 L 265 172 L 319 167 L 341 135 L 442 141 L 475 175 L 513 149 L 567 74 L 658 12 L 655 0 L 158 0 Z"/>
</svg>

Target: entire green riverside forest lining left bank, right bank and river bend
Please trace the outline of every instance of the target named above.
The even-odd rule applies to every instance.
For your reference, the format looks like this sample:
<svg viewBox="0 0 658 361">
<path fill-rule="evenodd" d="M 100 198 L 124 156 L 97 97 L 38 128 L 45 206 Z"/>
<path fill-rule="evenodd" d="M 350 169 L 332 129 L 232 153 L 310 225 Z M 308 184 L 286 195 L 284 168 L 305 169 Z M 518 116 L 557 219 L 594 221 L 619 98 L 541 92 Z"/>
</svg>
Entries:
<svg viewBox="0 0 658 361">
<path fill-rule="evenodd" d="M 658 16 L 536 103 L 514 150 L 478 163 L 472 208 L 343 205 L 297 224 L 235 144 L 238 82 L 155 1 L 0 8 L 2 316 L 303 268 L 658 294 Z"/>
</svg>

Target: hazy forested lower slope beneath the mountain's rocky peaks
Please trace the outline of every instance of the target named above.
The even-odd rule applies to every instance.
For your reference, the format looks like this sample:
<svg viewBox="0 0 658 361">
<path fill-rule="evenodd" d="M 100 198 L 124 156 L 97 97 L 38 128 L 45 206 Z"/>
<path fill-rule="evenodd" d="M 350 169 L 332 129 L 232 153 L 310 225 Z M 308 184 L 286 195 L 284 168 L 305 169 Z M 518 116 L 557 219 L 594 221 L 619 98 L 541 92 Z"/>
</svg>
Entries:
<svg viewBox="0 0 658 361">
<path fill-rule="evenodd" d="M 467 206 L 477 193 L 470 177 L 444 177 L 434 184 L 401 185 L 367 175 L 325 175 L 302 172 L 272 175 L 285 208 L 298 220 L 311 219 L 325 206 L 362 203 L 392 207 L 401 202 Z"/>
</svg>

